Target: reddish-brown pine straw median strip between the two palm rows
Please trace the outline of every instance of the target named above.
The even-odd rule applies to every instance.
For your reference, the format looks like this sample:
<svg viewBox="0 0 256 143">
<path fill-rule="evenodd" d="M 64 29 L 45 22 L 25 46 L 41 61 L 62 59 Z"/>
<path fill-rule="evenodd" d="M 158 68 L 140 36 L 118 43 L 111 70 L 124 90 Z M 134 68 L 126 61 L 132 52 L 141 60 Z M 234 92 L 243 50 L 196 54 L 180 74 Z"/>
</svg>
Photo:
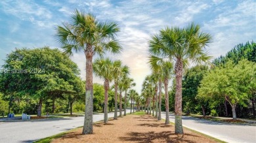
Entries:
<svg viewBox="0 0 256 143">
<path fill-rule="evenodd" d="M 174 125 L 148 115 L 131 114 L 108 123 L 95 123 L 92 135 L 81 135 L 82 128 L 75 129 L 52 142 L 215 142 L 207 136 L 184 129 L 184 136 L 174 133 Z"/>
</svg>

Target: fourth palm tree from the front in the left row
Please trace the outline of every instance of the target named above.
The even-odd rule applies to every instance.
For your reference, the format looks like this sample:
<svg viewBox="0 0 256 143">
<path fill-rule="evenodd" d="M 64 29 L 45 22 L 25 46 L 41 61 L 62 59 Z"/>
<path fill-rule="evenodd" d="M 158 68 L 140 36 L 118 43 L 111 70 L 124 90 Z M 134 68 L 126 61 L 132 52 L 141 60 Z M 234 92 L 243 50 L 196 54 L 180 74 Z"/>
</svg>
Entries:
<svg viewBox="0 0 256 143">
<path fill-rule="evenodd" d="M 124 103 L 124 114 L 126 116 L 126 108 L 127 108 L 127 90 L 132 86 L 136 86 L 135 82 L 133 82 L 133 78 L 128 78 L 124 76 L 123 78 L 123 90 L 125 91 L 125 103 Z"/>
</svg>

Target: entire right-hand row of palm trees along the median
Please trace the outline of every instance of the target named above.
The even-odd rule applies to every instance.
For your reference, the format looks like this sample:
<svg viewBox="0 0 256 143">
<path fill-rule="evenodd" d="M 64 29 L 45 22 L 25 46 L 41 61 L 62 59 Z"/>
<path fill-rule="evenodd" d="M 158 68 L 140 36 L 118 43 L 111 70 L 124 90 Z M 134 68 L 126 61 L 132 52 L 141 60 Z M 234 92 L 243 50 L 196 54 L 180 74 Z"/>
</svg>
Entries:
<svg viewBox="0 0 256 143">
<path fill-rule="evenodd" d="M 162 82 L 165 89 L 165 123 L 169 124 L 169 95 L 168 81 L 171 75 L 175 74 L 176 93 L 175 93 L 175 133 L 183 134 L 182 129 L 182 73 L 188 67 L 189 63 L 202 64 L 209 63 L 205 46 L 209 44 L 211 36 L 200 31 L 200 25 L 190 24 L 184 28 L 165 27 L 161 29 L 159 34 L 153 35 L 149 42 L 148 51 L 150 52 L 149 63 L 152 69 L 152 76 L 157 78 L 154 80 L 154 86 L 158 82 L 159 105 L 156 106 L 158 114 L 156 116 L 161 119 L 161 89 Z M 173 66 L 174 65 L 174 66 Z M 174 69 L 173 69 L 174 67 Z M 143 85 L 142 85 L 143 86 Z M 146 90 L 146 89 L 143 89 Z M 143 91 L 142 91 L 143 92 Z M 152 91 L 153 93 L 153 91 Z M 152 94 L 151 93 L 151 94 Z M 157 88 L 154 91 L 157 97 Z M 158 99 L 156 98 L 156 99 Z M 158 101 L 156 101 L 157 104 Z M 153 102 L 154 106 L 154 102 Z"/>
</svg>

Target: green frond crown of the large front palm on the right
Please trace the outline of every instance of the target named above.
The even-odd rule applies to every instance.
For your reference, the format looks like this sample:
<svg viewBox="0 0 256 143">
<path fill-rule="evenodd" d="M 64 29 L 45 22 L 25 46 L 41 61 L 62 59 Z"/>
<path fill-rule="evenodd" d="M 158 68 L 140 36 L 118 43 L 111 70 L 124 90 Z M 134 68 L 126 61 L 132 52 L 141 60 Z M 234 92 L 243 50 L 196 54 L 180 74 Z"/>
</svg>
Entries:
<svg viewBox="0 0 256 143">
<path fill-rule="evenodd" d="M 202 63 L 211 57 L 207 56 L 205 46 L 208 46 L 211 36 L 200 32 L 200 25 L 194 23 L 181 29 L 165 27 L 160 35 L 154 35 L 150 40 L 150 54 L 161 58 L 181 60 L 187 63 Z"/>
</svg>

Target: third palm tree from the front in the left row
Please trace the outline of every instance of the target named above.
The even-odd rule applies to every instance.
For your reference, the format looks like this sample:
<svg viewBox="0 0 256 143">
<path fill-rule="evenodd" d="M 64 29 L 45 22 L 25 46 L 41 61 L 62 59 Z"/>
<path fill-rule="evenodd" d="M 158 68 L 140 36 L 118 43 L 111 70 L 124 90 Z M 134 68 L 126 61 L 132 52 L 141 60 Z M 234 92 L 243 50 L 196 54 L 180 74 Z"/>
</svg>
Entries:
<svg viewBox="0 0 256 143">
<path fill-rule="evenodd" d="M 115 112 L 114 119 L 117 119 L 117 90 L 119 79 L 123 74 L 129 73 L 129 67 L 122 66 L 121 60 L 116 60 L 113 63 L 114 72 L 112 73 L 114 76 L 114 86 L 115 86 Z"/>
</svg>

